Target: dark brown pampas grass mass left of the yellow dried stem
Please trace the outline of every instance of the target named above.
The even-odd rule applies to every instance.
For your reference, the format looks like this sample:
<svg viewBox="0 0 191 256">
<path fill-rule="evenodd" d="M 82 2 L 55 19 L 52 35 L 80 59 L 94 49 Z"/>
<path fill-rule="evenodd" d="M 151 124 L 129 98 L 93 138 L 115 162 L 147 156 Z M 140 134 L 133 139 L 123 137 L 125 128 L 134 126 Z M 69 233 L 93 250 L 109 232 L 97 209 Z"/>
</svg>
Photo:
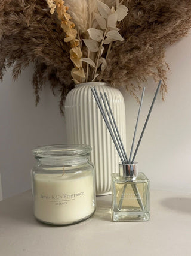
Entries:
<svg viewBox="0 0 191 256">
<path fill-rule="evenodd" d="M 51 16 L 45 0 L 2 0 L 0 21 L 0 79 L 11 66 L 17 79 L 32 62 L 36 104 L 42 86 L 50 81 L 53 92 L 56 88 L 61 92 L 62 112 L 63 100 L 73 88 L 73 66 L 57 17 Z"/>
</svg>

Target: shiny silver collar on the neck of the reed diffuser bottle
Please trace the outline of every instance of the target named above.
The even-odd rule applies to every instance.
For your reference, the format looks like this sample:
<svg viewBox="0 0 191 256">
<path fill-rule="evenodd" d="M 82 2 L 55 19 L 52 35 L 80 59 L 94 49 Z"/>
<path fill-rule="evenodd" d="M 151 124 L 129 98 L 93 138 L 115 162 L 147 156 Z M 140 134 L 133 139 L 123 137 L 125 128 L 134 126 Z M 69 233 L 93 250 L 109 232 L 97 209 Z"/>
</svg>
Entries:
<svg viewBox="0 0 191 256">
<path fill-rule="evenodd" d="M 138 162 L 119 164 L 119 176 L 134 178 L 138 176 Z"/>
</svg>

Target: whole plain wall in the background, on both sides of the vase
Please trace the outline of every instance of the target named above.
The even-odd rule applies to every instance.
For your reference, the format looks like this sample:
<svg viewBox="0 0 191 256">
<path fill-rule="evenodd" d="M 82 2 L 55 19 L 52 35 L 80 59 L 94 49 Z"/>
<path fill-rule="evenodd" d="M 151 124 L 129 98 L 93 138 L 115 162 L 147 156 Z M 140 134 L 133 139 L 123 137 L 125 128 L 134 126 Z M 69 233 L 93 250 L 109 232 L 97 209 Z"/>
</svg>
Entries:
<svg viewBox="0 0 191 256">
<path fill-rule="evenodd" d="M 165 102 L 160 97 L 156 100 L 137 154 L 140 170 L 149 177 L 152 189 L 191 191 L 190 45 L 191 34 L 167 49 L 166 60 L 171 68 L 168 94 Z M 36 108 L 31 76 L 32 67 L 13 83 L 9 70 L 0 85 L 0 172 L 4 198 L 30 188 L 29 173 L 35 162 L 33 147 L 66 142 L 58 97 L 46 88 Z M 150 79 L 137 137 L 155 93 L 153 84 Z M 124 96 L 130 149 L 138 105 L 127 93 Z"/>
</svg>

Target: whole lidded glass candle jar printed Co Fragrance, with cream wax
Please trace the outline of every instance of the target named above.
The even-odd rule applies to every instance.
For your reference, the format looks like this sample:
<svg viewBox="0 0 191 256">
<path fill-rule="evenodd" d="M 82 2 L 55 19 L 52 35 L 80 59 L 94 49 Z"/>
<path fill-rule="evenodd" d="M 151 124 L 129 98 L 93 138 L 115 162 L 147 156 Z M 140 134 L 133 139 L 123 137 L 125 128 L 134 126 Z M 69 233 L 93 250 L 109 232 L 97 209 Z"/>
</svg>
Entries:
<svg viewBox="0 0 191 256">
<path fill-rule="evenodd" d="M 84 221 L 96 210 L 91 147 L 66 144 L 36 147 L 31 170 L 34 215 L 39 221 L 68 225 Z"/>
</svg>

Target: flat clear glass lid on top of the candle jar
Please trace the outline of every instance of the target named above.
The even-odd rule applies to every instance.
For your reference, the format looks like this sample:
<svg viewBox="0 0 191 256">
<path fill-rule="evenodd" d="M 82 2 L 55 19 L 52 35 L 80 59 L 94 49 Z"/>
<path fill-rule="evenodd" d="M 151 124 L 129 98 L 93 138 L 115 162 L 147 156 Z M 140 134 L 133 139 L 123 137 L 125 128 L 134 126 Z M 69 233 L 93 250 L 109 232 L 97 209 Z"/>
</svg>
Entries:
<svg viewBox="0 0 191 256">
<path fill-rule="evenodd" d="M 35 156 L 82 156 L 91 152 L 91 146 L 86 144 L 55 144 L 38 146 L 32 149 Z"/>
</svg>

